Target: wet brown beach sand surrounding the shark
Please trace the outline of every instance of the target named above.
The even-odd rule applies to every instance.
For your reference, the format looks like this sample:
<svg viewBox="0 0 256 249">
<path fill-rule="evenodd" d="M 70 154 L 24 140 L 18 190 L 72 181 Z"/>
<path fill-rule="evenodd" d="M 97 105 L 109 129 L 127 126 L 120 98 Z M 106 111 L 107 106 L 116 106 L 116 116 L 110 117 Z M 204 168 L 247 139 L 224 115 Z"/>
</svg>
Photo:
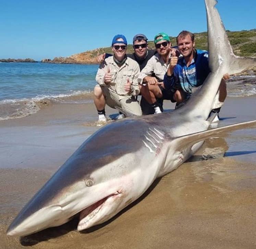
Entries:
<svg viewBox="0 0 256 249">
<path fill-rule="evenodd" d="M 256 119 L 255 104 L 255 97 L 228 98 L 220 126 Z M 6 236 L 26 202 L 98 129 L 96 118 L 93 104 L 54 104 L 0 122 L 0 248 L 256 248 L 255 128 L 208 139 L 110 222 L 77 232 L 74 219 Z"/>
</svg>

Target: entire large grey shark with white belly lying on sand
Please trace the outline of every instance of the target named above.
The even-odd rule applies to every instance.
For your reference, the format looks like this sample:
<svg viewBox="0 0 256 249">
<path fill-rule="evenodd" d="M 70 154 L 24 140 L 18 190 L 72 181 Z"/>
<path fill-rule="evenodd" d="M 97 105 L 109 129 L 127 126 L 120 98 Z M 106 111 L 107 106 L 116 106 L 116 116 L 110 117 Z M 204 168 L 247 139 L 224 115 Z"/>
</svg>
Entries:
<svg viewBox="0 0 256 249">
<path fill-rule="evenodd" d="M 205 4 L 212 72 L 203 86 L 172 113 L 131 117 L 99 129 L 26 204 L 7 235 L 25 236 L 59 226 L 77 213 L 79 231 L 108 221 L 139 198 L 157 177 L 186 161 L 205 139 L 256 125 L 249 121 L 207 130 L 207 117 L 223 74 L 242 71 L 255 60 L 233 55 L 216 1 L 205 0 Z"/>
</svg>

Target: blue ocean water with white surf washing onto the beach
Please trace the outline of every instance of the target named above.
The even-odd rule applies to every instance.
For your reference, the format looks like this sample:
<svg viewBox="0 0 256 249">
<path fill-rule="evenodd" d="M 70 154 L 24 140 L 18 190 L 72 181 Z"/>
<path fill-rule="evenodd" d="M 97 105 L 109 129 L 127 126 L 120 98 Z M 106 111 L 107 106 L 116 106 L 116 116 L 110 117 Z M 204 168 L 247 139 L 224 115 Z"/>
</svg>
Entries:
<svg viewBox="0 0 256 249">
<path fill-rule="evenodd" d="M 0 63 L 0 120 L 36 113 L 51 102 L 93 101 L 98 65 Z M 231 77 L 229 97 L 256 95 L 255 75 Z"/>
</svg>

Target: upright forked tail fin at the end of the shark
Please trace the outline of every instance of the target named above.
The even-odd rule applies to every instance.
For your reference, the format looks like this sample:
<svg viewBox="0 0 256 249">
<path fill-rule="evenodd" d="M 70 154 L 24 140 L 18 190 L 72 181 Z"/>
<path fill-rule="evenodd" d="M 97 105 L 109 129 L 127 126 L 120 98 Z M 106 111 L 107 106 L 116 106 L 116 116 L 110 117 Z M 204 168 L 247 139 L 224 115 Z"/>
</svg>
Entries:
<svg viewBox="0 0 256 249">
<path fill-rule="evenodd" d="M 215 8 L 216 0 L 205 0 L 208 26 L 209 66 L 216 72 L 223 65 L 222 72 L 230 75 L 256 66 L 256 59 L 234 55 L 224 25 Z"/>
</svg>

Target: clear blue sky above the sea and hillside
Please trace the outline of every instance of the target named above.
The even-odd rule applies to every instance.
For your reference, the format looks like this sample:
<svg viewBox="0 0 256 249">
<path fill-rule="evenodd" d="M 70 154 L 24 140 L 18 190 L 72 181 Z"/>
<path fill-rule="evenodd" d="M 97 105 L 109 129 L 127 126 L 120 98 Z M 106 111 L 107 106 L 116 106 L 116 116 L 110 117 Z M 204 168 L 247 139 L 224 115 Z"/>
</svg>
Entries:
<svg viewBox="0 0 256 249">
<path fill-rule="evenodd" d="M 219 0 L 217 9 L 226 29 L 256 28 L 255 0 Z M 137 33 L 207 30 L 203 0 L 0 0 L 0 17 L 0 59 L 66 57 L 110 46 L 116 34 L 132 43 Z"/>
</svg>

